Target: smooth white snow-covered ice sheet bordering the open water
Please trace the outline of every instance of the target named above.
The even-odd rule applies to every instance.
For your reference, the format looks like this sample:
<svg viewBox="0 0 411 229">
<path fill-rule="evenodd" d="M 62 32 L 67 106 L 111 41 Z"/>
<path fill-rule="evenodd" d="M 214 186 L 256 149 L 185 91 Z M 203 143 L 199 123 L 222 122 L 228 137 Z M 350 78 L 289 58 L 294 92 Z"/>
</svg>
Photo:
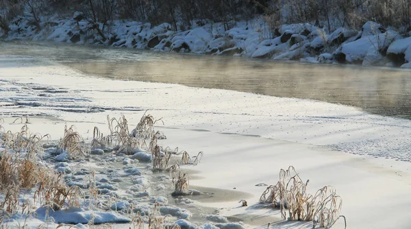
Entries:
<svg viewBox="0 0 411 229">
<path fill-rule="evenodd" d="M 192 185 L 236 188 L 252 195 L 247 197 L 252 206 L 265 189 L 256 184 L 275 184 L 279 169 L 294 165 L 303 179 L 310 179 L 310 191 L 327 184 L 336 187 L 349 228 L 410 227 L 409 120 L 320 101 L 102 80 L 23 56 L 0 56 L 0 75 L 0 115 L 48 117 L 49 121 L 32 119 L 29 125 L 53 139 L 62 135 L 65 123 L 75 124 L 90 138 L 95 125 L 106 130 L 106 115 L 125 115 L 134 125 L 149 109 L 163 117 L 165 125 L 159 128 L 168 139 L 162 144 L 190 154 L 204 152 L 201 163 L 190 168 L 199 171 Z M 221 208 L 220 214 L 227 217 L 280 217 L 267 209 L 238 208 L 238 201 L 197 204 Z M 295 223 L 273 226 L 310 228 Z"/>
</svg>

